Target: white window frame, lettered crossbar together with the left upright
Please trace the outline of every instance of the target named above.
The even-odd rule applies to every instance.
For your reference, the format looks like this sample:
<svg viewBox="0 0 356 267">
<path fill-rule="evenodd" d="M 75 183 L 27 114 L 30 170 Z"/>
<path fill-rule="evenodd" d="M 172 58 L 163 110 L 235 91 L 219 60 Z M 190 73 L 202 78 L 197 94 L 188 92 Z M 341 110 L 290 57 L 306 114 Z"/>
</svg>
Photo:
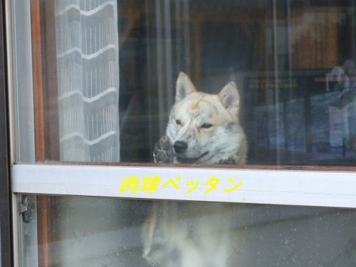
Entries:
<svg viewBox="0 0 356 267">
<path fill-rule="evenodd" d="M 60 162 L 35 164 L 33 102 L 31 101 L 33 85 L 30 1 L 6 0 L 6 16 L 12 137 L 11 171 L 15 203 L 13 207 L 14 229 L 19 226 L 17 218 L 19 207 L 16 204 L 18 203 L 16 197 L 19 194 L 356 208 L 356 172 L 353 172 L 355 168 L 344 168 L 345 170 L 340 171 L 335 171 L 333 168 L 324 168 L 323 171 L 305 171 L 297 167 L 292 167 L 290 170 L 273 170 L 257 169 L 253 166 L 227 169 L 199 166 L 164 167 L 162 165 L 159 167 L 90 166 L 61 164 Z M 26 33 L 24 35 L 16 34 L 16 27 L 20 24 L 23 27 L 21 33 Z M 23 98 L 23 95 L 22 98 L 17 98 L 16 92 L 25 94 L 26 98 Z M 26 101 L 21 102 L 23 100 Z M 19 123 L 27 127 L 19 129 Z M 21 162 L 26 162 L 26 164 Z M 123 179 L 132 176 L 141 179 L 159 176 L 162 184 L 177 176 L 182 177 L 182 180 L 179 190 L 171 186 L 160 187 L 158 192 L 152 194 L 140 190 L 136 194 L 130 191 L 120 194 Z M 204 192 L 206 187 L 199 187 L 187 194 L 189 187 L 186 182 L 199 181 L 203 185 L 213 176 L 221 179 L 219 189 L 206 193 Z M 226 193 L 223 190 L 231 187 L 229 178 L 233 178 L 234 182 L 243 182 L 243 184 L 234 192 Z M 16 244 L 16 238 L 14 241 L 16 249 L 19 244 Z M 18 264 L 15 263 L 16 266 Z"/>
</svg>

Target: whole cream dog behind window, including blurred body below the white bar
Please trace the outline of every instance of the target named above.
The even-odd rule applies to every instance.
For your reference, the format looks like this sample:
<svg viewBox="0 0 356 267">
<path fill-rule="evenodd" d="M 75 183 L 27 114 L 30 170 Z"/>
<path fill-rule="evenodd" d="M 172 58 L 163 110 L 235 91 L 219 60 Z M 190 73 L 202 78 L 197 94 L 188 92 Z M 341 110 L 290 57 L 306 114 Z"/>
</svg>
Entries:
<svg viewBox="0 0 356 267">
<path fill-rule="evenodd" d="M 240 95 L 234 82 L 218 95 L 196 90 L 180 73 L 166 135 L 153 157 L 159 163 L 246 164 L 246 135 L 239 122 Z M 236 248 L 234 204 L 154 201 L 142 237 L 143 257 L 155 267 L 224 267 Z"/>
</svg>

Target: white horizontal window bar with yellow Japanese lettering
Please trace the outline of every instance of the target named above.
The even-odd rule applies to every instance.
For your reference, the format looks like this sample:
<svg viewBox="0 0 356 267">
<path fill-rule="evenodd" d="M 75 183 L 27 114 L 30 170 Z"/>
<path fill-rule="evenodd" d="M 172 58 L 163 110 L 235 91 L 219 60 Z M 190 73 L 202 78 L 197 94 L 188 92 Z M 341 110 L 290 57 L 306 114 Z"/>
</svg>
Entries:
<svg viewBox="0 0 356 267">
<path fill-rule="evenodd" d="M 135 194 L 122 189 L 130 177 L 140 180 Z M 145 178 L 155 177 L 161 179 L 157 191 L 142 190 Z M 211 189 L 209 180 L 219 181 L 216 189 Z M 14 165 L 13 182 L 14 192 L 23 194 L 356 208 L 356 172 L 19 164 Z"/>
</svg>

